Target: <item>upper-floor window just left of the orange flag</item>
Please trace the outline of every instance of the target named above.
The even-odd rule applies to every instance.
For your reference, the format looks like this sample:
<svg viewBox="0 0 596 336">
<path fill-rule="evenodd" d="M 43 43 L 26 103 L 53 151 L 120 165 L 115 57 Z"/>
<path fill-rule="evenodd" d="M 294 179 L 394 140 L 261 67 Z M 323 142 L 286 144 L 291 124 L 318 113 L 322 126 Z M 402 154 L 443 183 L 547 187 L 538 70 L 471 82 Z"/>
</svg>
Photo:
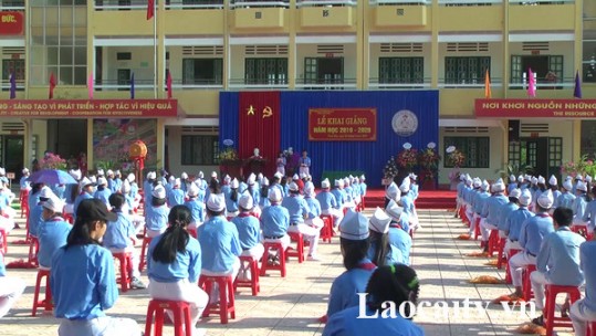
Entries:
<svg viewBox="0 0 596 336">
<path fill-rule="evenodd" d="M 487 69 L 490 72 L 491 57 L 445 57 L 445 84 L 480 84 Z"/>
</svg>

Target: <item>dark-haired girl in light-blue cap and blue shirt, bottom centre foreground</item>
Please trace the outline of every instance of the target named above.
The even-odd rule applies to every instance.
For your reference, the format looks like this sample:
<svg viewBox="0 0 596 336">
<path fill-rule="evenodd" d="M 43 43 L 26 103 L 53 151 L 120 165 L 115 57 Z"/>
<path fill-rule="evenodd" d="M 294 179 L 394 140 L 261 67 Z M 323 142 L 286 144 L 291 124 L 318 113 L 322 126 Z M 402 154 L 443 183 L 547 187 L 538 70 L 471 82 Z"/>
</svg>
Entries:
<svg viewBox="0 0 596 336">
<path fill-rule="evenodd" d="M 346 271 L 337 276 L 331 285 L 327 317 L 358 305 L 358 294 L 364 293 L 373 271 L 377 267 L 366 253 L 369 243 L 368 219 L 348 210 L 339 223 L 339 244 Z M 322 318 L 323 321 L 325 318 Z"/>
</svg>

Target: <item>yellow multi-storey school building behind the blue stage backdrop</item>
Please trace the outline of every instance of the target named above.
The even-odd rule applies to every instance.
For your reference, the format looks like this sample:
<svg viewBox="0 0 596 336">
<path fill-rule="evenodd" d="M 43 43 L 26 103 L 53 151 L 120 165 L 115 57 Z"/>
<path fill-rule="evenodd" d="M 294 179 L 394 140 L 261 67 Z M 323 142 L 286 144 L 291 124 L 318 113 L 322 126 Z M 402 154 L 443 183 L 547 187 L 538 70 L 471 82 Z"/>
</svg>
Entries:
<svg viewBox="0 0 596 336">
<path fill-rule="evenodd" d="M 208 172 L 222 91 L 436 91 L 439 153 L 482 177 L 596 149 L 596 1 L 166 0 L 148 17 L 146 0 L 0 0 L 0 166 L 126 164 L 143 139 L 147 167 Z"/>
</svg>

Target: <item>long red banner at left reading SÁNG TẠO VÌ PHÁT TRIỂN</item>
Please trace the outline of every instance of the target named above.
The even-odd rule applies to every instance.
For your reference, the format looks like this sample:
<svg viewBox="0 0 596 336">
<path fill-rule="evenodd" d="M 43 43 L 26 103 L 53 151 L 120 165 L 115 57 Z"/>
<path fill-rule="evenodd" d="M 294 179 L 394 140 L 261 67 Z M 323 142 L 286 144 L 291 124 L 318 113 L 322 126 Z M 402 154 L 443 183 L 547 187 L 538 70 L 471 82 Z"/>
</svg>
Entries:
<svg viewBox="0 0 596 336">
<path fill-rule="evenodd" d="M 176 99 L 10 99 L 0 102 L 0 117 L 155 118 L 177 117 Z"/>
</svg>

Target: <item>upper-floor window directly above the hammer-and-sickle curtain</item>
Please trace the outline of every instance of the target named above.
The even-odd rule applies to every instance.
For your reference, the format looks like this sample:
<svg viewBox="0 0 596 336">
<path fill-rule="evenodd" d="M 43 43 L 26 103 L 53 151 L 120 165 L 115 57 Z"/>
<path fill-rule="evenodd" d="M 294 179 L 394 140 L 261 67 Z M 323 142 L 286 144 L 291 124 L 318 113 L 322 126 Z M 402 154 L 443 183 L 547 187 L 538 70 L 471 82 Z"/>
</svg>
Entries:
<svg viewBox="0 0 596 336">
<path fill-rule="evenodd" d="M 245 59 L 244 84 L 286 84 L 287 59 Z"/>
</svg>

